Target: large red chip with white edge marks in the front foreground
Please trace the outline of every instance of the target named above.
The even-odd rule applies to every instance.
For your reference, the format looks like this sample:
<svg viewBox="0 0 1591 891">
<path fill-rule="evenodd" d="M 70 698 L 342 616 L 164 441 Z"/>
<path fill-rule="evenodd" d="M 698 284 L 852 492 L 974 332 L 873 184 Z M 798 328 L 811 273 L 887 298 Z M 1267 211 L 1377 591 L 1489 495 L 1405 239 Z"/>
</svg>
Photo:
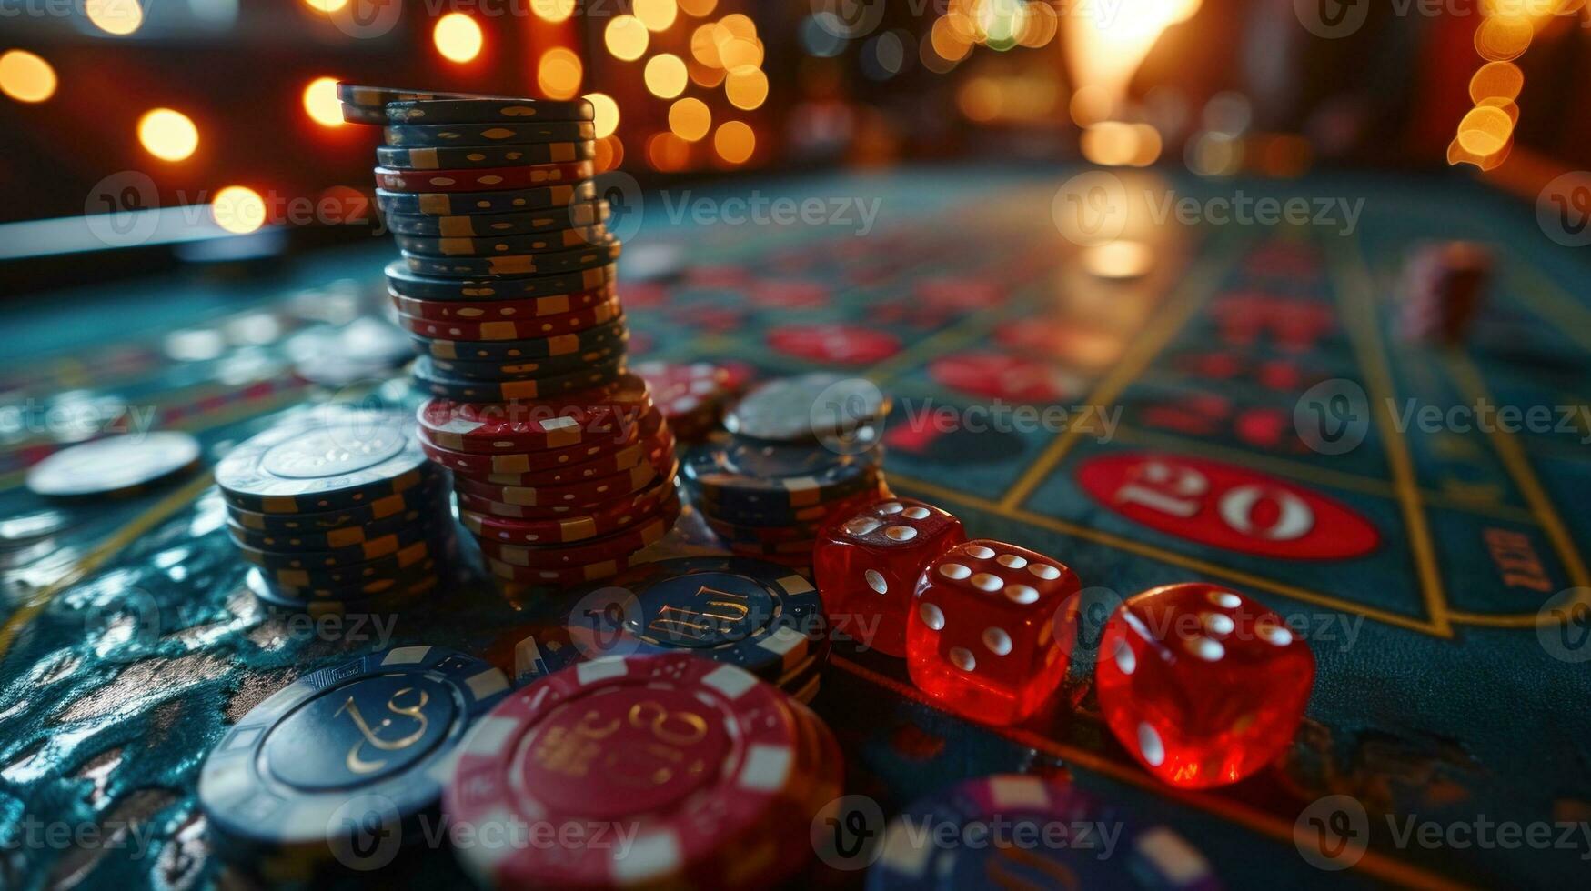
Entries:
<svg viewBox="0 0 1591 891">
<path fill-rule="evenodd" d="M 686 652 L 598 659 L 511 694 L 476 727 L 447 786 L 450 821 L 485 832 L 528 819 L 554 837 L 622 824 L 646 840 L 463 846 L 485 885 L 722 886 L 740 864 L 760 886 L 789 869 L 772 856 L 788 837 L 760 869 L 743 861 L 792 823 L 794 792 L 810 796 L 811 780 L 797 776 L 810 756 L 786 697 L 741 668 Z"/>
</svg>

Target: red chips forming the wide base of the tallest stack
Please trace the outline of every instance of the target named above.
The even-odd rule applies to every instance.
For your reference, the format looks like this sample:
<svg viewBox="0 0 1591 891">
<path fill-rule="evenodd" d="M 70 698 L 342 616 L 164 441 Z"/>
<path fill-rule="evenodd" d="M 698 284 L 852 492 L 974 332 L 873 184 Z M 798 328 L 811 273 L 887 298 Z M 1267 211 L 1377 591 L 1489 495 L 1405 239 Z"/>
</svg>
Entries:
<svg viewBox="0 0 1591 891">
<path fill-rule="evenodd" d="M 568 396 L 431 399 L 420 446 L 453 471 L 460 517 L 506 582 L 603 579 L 679 519 L 675 436 L 635 374 Z"/>
</svg>

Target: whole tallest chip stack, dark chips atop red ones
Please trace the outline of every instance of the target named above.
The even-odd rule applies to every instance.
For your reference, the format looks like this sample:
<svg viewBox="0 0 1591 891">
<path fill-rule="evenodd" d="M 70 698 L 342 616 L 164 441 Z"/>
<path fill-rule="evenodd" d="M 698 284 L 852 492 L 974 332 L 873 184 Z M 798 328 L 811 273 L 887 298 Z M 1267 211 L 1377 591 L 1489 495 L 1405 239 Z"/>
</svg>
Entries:
<svg viewBox="0 0 1591 891">
<path fill-rule="evenodd" d="M 385 123 L 375 200 L 426 453 L 506 582 L 611 576 L 679 516 L 675 438 L 627 372 L 619 240 L 592 181 L 590 102 L 339 86 Z"/>
</svg>

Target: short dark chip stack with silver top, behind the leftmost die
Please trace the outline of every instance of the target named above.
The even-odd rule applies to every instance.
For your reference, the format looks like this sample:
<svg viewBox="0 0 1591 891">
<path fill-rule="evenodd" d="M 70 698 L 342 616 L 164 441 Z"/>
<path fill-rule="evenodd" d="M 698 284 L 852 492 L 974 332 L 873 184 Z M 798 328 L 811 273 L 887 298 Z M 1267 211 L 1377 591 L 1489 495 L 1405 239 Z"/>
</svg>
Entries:
<svg viewBox="0 0 1591 891">
<path fill-rule="evenodd" d="M 727 433 L 681 461 L 692 504 L 730 552 L 810 566 L 826 517 L 889 495 L 878 442 L 888 410 L 864 379 L 762 383 L 727 410 Z"/>
</svg>

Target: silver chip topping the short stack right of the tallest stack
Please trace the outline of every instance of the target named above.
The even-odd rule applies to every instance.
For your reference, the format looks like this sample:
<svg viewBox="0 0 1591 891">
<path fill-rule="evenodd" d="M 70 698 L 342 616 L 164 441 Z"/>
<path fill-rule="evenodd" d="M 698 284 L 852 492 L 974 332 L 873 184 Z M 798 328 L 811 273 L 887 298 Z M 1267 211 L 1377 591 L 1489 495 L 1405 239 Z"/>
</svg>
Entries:
<svg viewBox="0 0 1591 891">
<path fill-rule="evenodd" d="M 724 428 L 770 442 L 838 441 L 867 446 L 889 398 L 864 377 L 831 372 L 754 387 L 724 415 Z"/>
</svg>

